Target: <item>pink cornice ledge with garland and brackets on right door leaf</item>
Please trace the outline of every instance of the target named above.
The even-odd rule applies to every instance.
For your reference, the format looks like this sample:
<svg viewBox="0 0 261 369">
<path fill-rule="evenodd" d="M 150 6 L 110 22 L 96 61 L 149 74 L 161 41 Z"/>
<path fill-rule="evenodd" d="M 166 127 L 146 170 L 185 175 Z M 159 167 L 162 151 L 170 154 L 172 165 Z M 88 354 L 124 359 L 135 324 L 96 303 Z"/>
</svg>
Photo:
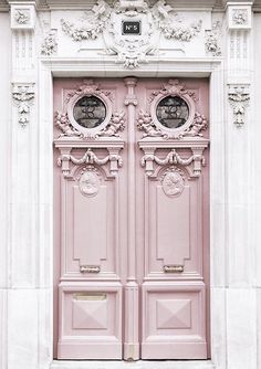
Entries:
<svg viewBox="0 0 261 369">
<path fill-rule="evenodd" d="M 154 144 L 153 144 L 154 143 Z M 175 145 L 173 145 L 175 146 Z M 201 173 L 201 166 L 205 166 L 205 157 L 202 155 L 205 148 L 208 146 L 208 140 L 202 139 L 201 145 L 196 146 L 196 141 L 190 141 L 184 145 L 178 145 L 171 148 L 171 145 L 160 145 L 159 141 L 149 140 L 144 145 L 139 141 L 139 147 L 144 151 L 144 157 L 142 158 L 142 167 L 145 167 L 145 171 L 148 177 L 155 176 L 155 165 L 157 166 L 168 166 L 168 165 L 180 165 L 187 167 L 191 177 L 199 177 Z M 156 155 L 156 149 L 170 148 L 169 152 L 165 157 L 159 157 Z M 189 148 L 191 150 L 191 156 L 181 157 L 177 151 L 177 148 Z"/>
</svg>

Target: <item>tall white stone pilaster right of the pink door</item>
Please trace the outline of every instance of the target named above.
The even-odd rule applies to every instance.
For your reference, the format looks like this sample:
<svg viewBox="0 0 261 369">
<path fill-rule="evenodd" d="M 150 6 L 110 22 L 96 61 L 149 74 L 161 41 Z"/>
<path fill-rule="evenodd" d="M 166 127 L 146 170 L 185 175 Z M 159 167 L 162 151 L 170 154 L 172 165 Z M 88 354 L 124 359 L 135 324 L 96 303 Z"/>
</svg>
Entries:
<svg viewBox="0 0 261 369">
<path fill-rule="evenodd" d="M 227 3 L 227 368 L 255 369 L 252 3 Z M 244 337 L 248 337 L 244 339 Z"/>
</svg>

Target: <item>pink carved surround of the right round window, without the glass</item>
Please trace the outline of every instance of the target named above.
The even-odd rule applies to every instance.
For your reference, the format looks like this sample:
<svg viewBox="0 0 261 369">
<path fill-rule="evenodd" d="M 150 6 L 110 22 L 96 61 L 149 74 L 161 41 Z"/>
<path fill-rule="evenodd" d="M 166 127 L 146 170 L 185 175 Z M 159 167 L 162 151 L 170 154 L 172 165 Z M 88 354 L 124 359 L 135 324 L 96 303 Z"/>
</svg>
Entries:
<svg viewBox="0 0 261 369">
<path fill-rule="evenodd" d="M 156 107 L 166 96 L 179 96 L 189 107 L 187 122 L 175 129 L 163 126 L 156 116 Z M 137 127 L 143 130 L 143 138 L 163 137 L 164 139 L 181 139 L 185 136 L 202 137 L 202 131 L 207 129 L 208 124 L 206 117 L 196 112 L 195 99 L 195 94 L 186 89 L 178 80 L 170 80 L 161 89 L 154 91 L 149 101 L 150 112 L 140 110 L 138 114 Z"/>
</svg>

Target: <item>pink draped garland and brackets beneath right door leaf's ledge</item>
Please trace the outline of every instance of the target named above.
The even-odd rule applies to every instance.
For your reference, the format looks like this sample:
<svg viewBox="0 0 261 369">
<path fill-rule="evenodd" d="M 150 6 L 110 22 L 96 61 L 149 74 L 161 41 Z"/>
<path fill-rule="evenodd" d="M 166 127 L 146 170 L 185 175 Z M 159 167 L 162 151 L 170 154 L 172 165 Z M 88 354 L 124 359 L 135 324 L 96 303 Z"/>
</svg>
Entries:
<svg viewBox="0 0 261 369">
<path fill-rule="evenodd" d="M 148 177 L 154 175 L 153 162 L 158 166 L 180 165 L 189 166 L 194 164 L 192 176 L 199 177 L 201 173 L 201 165 L 205 166 L 205 157 L 202 156 L 203 148 L 191 148 L 192 155 L 189 158 L 181 158 L 180 155 L 173 148 L 165 158 L 159 158 L 154 152 L 145 154 L 140 160 L 142 167 L 145 167 Z"/>
</svg>

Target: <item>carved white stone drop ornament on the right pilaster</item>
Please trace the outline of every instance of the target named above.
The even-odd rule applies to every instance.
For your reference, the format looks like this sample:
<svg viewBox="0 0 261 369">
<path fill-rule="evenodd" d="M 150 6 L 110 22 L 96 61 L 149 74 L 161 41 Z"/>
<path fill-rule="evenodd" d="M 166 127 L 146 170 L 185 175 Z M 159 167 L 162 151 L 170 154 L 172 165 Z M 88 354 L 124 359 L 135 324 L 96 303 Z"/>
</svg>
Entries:
<svg viewBox="0 0 261 369">
<path fill-rule="evenodd" d="M 246 107 L 249 106 L 250 94 L 248 85 L 230 85 L 228 93 L 230 105 L 233 108 L 233 123 L 241 127 L 246 120 Z"/>
</svg>

